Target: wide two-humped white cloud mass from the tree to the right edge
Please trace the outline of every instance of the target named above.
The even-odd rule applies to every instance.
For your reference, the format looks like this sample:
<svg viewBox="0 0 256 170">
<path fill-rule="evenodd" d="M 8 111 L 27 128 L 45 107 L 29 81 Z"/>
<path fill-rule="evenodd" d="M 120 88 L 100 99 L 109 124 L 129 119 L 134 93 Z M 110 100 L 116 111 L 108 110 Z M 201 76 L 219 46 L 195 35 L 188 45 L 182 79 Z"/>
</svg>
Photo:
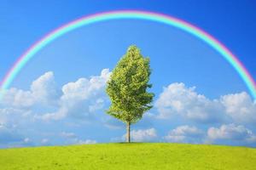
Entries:
<svg viewBox="0 0 256 170">
<path fill-rule="evenodd" d="M 164 88 L 155 107 L 162 119 L 183 116 L 194 122 L 256 122 L 256 101 L 245 92 L 207 99 L 195 87 L 176 82 Z"/>
</svg>

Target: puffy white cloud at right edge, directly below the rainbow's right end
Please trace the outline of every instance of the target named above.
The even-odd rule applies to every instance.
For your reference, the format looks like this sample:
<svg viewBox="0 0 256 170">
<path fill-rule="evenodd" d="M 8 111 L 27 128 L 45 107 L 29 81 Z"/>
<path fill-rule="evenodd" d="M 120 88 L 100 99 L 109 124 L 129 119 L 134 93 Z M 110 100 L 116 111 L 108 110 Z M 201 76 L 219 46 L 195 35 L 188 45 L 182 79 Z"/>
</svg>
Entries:
<svg viewBox="0 0 256 170">
<path fill-rule="evenodd" d="M 256 102 L 247 93 L 224 95 L 220 101 L 236 122 L 256 122 Z"/>
</svg>

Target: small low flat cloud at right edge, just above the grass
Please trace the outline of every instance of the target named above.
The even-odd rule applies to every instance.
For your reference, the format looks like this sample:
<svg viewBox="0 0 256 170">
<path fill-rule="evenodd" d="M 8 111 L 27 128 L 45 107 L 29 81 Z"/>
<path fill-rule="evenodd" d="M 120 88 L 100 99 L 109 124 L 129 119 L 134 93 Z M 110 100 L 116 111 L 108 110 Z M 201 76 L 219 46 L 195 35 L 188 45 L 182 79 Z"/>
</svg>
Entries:
<svg viewBox="0 0 256 170">
<path fill-rule="evenodd" d="M 218 141 L 255 143 L 256 136 L 253 132 L 242 125 L 224 124 L 221 127 L 210 127 L 207 132 L 208 141 L 211 143 Z"/>
</svg>

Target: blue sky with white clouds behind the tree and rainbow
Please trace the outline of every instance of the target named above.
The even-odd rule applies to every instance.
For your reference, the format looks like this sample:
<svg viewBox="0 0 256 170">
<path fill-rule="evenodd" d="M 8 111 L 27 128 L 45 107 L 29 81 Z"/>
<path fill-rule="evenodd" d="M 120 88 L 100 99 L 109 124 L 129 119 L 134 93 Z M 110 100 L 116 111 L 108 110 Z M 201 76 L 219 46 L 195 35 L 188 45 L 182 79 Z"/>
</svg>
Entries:
<svg viewBox="0 0 256 170">
<path fill-rule="evenodd" d="M 0 77 L 58 26 L 86 14 L 143 9 L 207 31 L 256 78 L 255 7 L 253 1 L 3 1 Z M 154 108 L 132 127 L 133 140 L 256 145 L 255 101 L 222 56 L 172 26 L 113 20 L 67 33 L 26 65 L 0 103 L 0 147 L 122 141 L 124 125 L 104 113 L 104 88 L 131 44 L 150 57 L 156 94 Z"/>
</svg>

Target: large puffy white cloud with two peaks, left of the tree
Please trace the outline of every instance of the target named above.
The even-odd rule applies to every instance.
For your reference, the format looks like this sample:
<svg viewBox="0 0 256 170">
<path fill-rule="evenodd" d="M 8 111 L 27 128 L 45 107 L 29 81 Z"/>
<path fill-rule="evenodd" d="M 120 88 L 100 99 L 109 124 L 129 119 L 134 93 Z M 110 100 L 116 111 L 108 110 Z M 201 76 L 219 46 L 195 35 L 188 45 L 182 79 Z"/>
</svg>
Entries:
<svg viewBox="0 0 256 170">
<path fill-rule="evenodd" d="M 67 116 L 90 117 L 90 113 L 102 109 L 105 101 L 108 101 L 104 91 L 110 74 L 108 69 L 103 69 L 100 76 L 90 77 L 90 79 L 79 78 L 76 82 L 68 82 L 58 91 L 54 73 L 49 71 L 33 81 L 30 90 L 24 91 L 17 88 L 7 90 L 1 105 L 3 108 L 27 111 L 33 110 L 32 107 L 36 106 L 37 112 L 34 117 L 48 121 Z M 50 109 L 45 113 L 47 108 Z M 41 113 L 42 111 L 44 114 Z"/>
</svg>

